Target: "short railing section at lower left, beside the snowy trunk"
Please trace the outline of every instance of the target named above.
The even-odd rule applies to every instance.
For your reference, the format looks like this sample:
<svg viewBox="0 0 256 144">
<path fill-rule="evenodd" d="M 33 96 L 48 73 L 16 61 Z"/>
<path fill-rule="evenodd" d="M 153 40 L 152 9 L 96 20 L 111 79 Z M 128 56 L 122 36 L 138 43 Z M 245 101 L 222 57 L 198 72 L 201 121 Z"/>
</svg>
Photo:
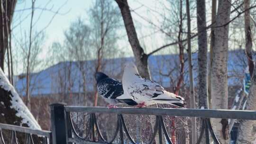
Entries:
<svg viewBox="0 0 256 144">
<path fill-rule="evenodd" d="M 41 144 L 52 144 L 52 133 L 45 130 L 34 130 L 23 126 L 14 126 L 8 124 L 0 124 L 0 144 L 7 144 L 7 139 L 3 136 L 3 130 L 10 131 L 10 138 L 8 140 L 9 144 L 21 144 L 18 141 L 17 132 L 24 133 L 24 143 L 23 144 L 37 144 L 38 140 Z M 37 135 L 37 143 L 33 139 L 32 135 Z M 21 137 L 20 137 L 21 138 Z"/>
</svg>

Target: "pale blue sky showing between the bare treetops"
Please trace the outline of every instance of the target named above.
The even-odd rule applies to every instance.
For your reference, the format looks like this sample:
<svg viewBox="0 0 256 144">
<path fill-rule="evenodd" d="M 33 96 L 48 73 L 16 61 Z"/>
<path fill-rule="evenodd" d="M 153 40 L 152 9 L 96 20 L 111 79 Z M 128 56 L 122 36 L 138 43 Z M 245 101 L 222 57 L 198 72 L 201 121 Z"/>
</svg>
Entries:
<svg viewBox="0 0 256 144">
<path fill-rule="evenodd" d="M 51 11 L 57 11 L 57 9 L 61 8 L 59 10 L 60 14 L 57 14 L 50 25 L 45 29 L 46 40 L 43 45 L 44 48 L 39 54 L 39 58 L 44 59 L 47 57 L 47 52 L 53 42 L 63 41 L 64 31 L 78 17 L 81 17 L 87 22 L 90 20 L 88 10 L 91 8 L 94 2 L 95 0 L 36 0 L 36 8 L 46 8 L 50 9 Z M 138 38 L 146 53 L 149 53 L 152 50 L 168 43 L 166 36 L 160 32 L 159 29 L 148 23 L 148 21 L 151 21 L 157 27 L 161 27 L 163 19 L 161 19 L 160 13 L 165 12 L 165 9 L 163 8 L 165 3 L 166 0 L 128 0 L 130 8 L 135 9 L 135 12 L 131 10 L 132 17 L 135 23 Z M 114 2 L 114 4 L 116 3 Z M 18 0 L 12 23 L 13 43 L 15 43 L 16 39 L 22 37 L 25 32 L 27 34 L 29 33 L 31 17 L 31 9 L 29 8 L 31 8 L 31 0 Z M 55 14 L 51 11 L 41 9 L 35 10 L 33 22 L 34 31 L 40 31 L 46 27 Z M 123 23 L 123 21 L 121 22 Z M 121 33 L 124 35 L 124 39 L 119 40 L 118 46 L 125 49 L 126 55 L 124 56 L 133 56 L 126 37 L 125 28 L 123 28 L 121 31 Z M 15 48 L 19 49 L 19 47 L 14 47 L 14 49 Z M 177 50 L 174 49 L 174 47 L 168 48 L 165 51 L 162 51 L 160 54 L 176 53 Z M 18 67 L 21 69 L 22 65 L 18 65 Z"/>
</svg>

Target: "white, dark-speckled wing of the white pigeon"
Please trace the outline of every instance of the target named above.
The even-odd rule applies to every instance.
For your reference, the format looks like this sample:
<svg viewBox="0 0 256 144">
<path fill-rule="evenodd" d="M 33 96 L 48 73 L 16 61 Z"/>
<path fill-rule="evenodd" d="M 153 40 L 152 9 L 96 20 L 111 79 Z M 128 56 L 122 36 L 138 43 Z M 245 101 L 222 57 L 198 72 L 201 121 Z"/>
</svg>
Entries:
<svg viewBox="0 0 256 144">
<path fill-rule="evenodd" d="M 165 90 L 161 85 L 154 81 L 137 79 L 128 86 L 128 92 L 135 98 L 155 98 L 160 94 L 163 94 Z M 143 98 L 142 98 L 143 99 Z"/>
</svg>

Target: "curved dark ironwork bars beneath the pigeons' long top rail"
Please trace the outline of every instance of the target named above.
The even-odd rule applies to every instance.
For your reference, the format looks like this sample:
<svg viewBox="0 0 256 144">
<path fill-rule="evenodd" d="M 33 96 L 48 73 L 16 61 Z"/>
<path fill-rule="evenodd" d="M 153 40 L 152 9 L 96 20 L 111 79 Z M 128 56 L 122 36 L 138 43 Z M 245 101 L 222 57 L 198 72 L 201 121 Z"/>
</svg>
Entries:
<svg viewBox="0 0 256 144">
<path fill-rule="evenodd" d="M 71 118 L 71 114 L 70 114 L 70 112 L 67 112 L 67 113 L 68 113 L 68 119 L 69 119 L 69 123 L 70 123 L 71 128 L 72 128 L 73 134 L 81 140 L 91 140 L 93 142 L 96 142 L 97 141 L 96 138 L 98 136 L 99 139 L 101 139 L 102 141 L 98 140 L 97 142 L 103 142 L 103 143 L 109 143 L 110 144 L 117 138 L 117 135 L 119 134 L 120 143 L 124 144 L 124 132 L 125 132 L 125 134 L 128 137 L 130 143 L 131 144 L 136 144 L 136 142 L 134 141 L 134 139 L 131 137 L 131 135 L 128 132 L 128 128 L 126 126 L 126 123 L 125 123 L 125 120 L 124 120 L 124 117 L 123 117 L 122 114 L 118 114 L 117 128 L 115 130 L 113 138 L 110 141 L 107 141 L 103 137 L 103 135 L 101 134 L 101 129 L 98 125 L 95 113 L 90 114 L 89 133 L 88 133 L 88 135 L 86 135 L 84 137 L 78 135 L 78 133 L 75 131 L 73 121 L 72 121 L 72 118 Z M 152 135 L 152 138 L 149 140 L 148 144 L 152 144 L 154 142 L 154 139 L 155 139 L 155 136 L 156 136 L 157 132 L 158 132 L 158 136 L 159 136 L 159 144 L 162 144 L 163 143 L 162 142 L 162 140 L 163 140 L 162 130 L 164 132 L 164 136 L 165 136 L 165 139 L 168 142 L 168 144 L 173 144 L 171 139 L 170 139 L 170 136 L 168 135 L 163 116 L 156 116 L 155 126 L 154 126 L 154 129 L 153 129 L 153 135 Z M 201 132 L 200 132 L 200 135 L 198 137 L 198 140 L 197 140 L 196 144 L 200 144 L 201 139 L 202 139 L 204 134 L 205 134 L 205 143 L 210 144 L 209 131 L 210 131 L 211 137 L 213 138 L 213 141 L 216 144 L 220 144 L 218 138 L 216 137 L 216 135 L 215 135 L 215 133 L 212 129 L 212 126 L 211 126 L 211 123 L 210 123 L 210 118 L 203 118 L 201 120 Z"/>
</svg>

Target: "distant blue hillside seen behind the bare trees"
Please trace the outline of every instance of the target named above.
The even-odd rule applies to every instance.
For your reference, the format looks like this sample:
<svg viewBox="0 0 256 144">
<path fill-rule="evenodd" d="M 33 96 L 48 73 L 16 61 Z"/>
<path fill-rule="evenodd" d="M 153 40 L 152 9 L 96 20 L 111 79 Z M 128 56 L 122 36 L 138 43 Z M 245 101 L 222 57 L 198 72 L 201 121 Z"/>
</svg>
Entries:
<svg viewBox="0 0 256 144">
<path fill-rule="evenodd" d="M 185 55 L 185 84 L 188 85 L 188 64 Z M 192 55 L 193 74 L 195 84 L 197 83 L 197 53 Z M 124 64 L 134 61 L 133 57 L 105 59 L 103 60 L 103 72 L 108 75 L 121 79 Z M 96 61 L 84 62 L 61 62 L 55 64 L 41 72 L 31 73 L 30 91 L 32 96 L 53 95 L 58 93 L 81 93 L 83 90 L 88 92 L 94 89 L 94 72 Z M 161 83 L 164 87 L 170 87 L 172 81 L 177 79 L 179 73 L 178 54 L 153 55 L 149 57 L 149 68 L 153 81 Z M 247 58 L 243 50 L 229 51 L 229 85 L 241 85 L 244 76 L 244 69 L 247 65 Z M 83 68 L 82 68 L 83 67 Z M 83 72 L 84 71 L 84 72 Z M 161 74 L 160 74 L 161 73 Z M 170 74 L 170 76 L 167 76 Z M 85 87 L 83 82 L 85 81 Z M 20 95 L 26 93 L 26 77 L 19 76 L 15 87 Z"/>
</svg>

